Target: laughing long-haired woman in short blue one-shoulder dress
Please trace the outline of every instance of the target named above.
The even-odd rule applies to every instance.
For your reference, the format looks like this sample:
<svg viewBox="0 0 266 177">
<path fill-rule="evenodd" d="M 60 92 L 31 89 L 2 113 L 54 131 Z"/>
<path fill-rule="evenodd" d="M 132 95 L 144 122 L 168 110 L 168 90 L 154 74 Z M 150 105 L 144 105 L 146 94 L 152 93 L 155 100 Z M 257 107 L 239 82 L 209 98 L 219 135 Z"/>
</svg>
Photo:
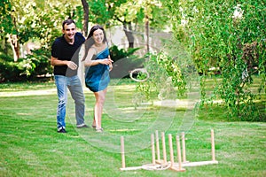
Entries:
<svg viewBox="0 0 266 177">
<path fill-rule="evenodd" d="M 97 132 L 103 132 L 101 125 L 103 106 L 106 99 L 107 86 L 110 82 L 109 72 L 113 68 L 113 60 L 106 40 L 106 32 L 103 27 L 96 25 L 91 27 L 90 34 L 85 42 L 85 84 L 96 98 L 94 107 L 94 119 L 92 127 Z"/>
</svg>

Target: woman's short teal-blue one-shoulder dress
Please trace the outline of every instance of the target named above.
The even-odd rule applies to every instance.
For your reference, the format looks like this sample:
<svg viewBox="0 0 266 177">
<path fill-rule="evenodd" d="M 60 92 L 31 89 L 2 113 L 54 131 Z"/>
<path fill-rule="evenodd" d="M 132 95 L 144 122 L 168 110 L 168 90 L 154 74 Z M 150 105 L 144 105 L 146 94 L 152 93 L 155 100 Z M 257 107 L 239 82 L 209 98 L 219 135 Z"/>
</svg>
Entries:
<svg viewBox="0 0 266 177">
<path fill-rule="evenodd" d="M 95 58 L 104 59 L 110 55 L 108 47 L 105 50 L 99 52 Z M 91 65 L 85 69 L 85 83 L 86 87 L 93 92 L 98 92 L 107 88 L 110 82 L 109 65 Z"/>
</svg>

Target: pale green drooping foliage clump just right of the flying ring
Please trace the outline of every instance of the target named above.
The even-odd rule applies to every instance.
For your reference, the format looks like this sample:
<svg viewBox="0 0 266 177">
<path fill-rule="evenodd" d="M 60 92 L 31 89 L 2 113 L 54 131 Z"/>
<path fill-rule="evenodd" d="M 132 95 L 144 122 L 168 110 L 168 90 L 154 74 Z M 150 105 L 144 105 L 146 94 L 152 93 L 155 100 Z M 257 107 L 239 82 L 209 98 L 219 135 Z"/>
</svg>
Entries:
<svg viewBox="0 0 266 177">
<path fill-rule="evenodd" d="M 154 99 L 154 95 L 160 100 L 173 99 L 176 96 L 184 96 L 186 82 L 176 60 L 166 53 L 160 52 L 150 56 L 145 62 L 145 69 L 149 73 L 147 81 L 138 82 L 137 90 L 146 99 Z M 146 73 L 139 73 L 137 79 L 146 78 Z"/>
</svg>

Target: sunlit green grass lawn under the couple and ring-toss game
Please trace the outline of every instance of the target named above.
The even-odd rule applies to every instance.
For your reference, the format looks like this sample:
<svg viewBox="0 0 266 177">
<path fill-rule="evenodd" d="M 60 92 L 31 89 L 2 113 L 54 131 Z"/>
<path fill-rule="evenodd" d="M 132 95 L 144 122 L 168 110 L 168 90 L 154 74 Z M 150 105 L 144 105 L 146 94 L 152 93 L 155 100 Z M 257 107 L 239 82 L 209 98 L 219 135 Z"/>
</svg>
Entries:
<svg viewBox="0 0 266 177">
<path fill-rule="evenodd" d="M 84 89 L 86 118 L 92 122 L 94 96 Z M 199 117 L 182 107 L 132 104 L 135 82 L 111 84 L 103 114 L 103 134 L 92 128 L 77 129 L 74 103 L 69 96 L 67 134 L 58 134 L 58 98 L 54 83 L 0 85 L 0 176 L 265 176 L 266 123 L 226 120 L 225 110 L 200 109 Z M 184 123 L 189 125 L 184 126 Z M 151 134 L 186 133 L 186 159 L 211 160 L 210 129 L 215 130 L 218 165 L 185 167 L 183 173 L 121 171 L 120 137 L 124 136 L 126 165 L 152 162 Z M 176 161 L 176 142 L 173 139 Z M 161 149 L 161 146 L 160 146 Z M 161 151 L 161 150 L 160 150 Z M 162 158 L 162 154 L 161 154 Z M 168 158 L 169 160 L 169 158 Z"/>
</svg>

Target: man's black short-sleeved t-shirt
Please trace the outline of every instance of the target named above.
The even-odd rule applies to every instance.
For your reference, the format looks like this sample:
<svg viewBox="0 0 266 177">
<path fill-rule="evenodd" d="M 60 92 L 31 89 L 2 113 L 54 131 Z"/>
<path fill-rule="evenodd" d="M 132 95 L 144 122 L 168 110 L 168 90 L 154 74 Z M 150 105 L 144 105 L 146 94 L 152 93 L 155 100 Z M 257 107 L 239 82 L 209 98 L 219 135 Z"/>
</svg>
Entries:
<svg viewBox="0 0 266 177">
<path fill-rule="evenodd" d="M 51 46 L 51 56 L 59 60 L 73 61 L 79 66 L 78 53 L 85 38 L 81 33 L 74 35 L 74 44 L 66 42 L 64 35 L 58 37 Z M 77 74 L 77 70 L 72 70 L 67 65 L 55 65 L 53 69 L 54 75 L 65 75 L 71 77 Z"/>
</svg>

